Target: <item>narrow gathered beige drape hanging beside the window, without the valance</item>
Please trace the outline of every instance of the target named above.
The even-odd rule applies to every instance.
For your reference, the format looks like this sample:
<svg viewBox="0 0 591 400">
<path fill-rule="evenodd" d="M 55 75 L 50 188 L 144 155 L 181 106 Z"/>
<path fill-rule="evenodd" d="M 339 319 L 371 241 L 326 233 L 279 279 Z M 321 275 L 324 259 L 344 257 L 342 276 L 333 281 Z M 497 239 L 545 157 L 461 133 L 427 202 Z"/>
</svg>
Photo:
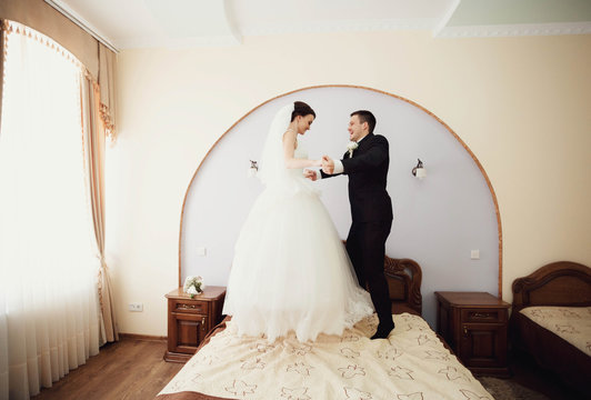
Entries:
<svg viewBox="0 0 591 400">
<path fill-rule="evenodd" d="M 99 266 L 99 300 L 101 308 L 101 344 L 119 340 L 116 324 L 113 293 L 107 262 L 104 261 L 104 133 L 100 118 L 101 94 L 99 84 L 90 74 L 81 79 L 82 128 L 84 136 L 88 198 L 94 227 L 94 244 Z"/>
</svg>

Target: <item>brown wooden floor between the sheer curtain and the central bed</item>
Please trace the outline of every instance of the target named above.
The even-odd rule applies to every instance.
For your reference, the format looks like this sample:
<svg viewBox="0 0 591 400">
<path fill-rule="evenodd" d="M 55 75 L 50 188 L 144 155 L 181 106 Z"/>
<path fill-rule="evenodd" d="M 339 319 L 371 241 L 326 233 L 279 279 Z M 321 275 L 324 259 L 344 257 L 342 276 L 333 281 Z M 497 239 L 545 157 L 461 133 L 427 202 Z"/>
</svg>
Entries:
<svg viewBox="0 0 591 400">
<path fill-rule="evenodd" d="M 163 340 L 121 339 L 70 371 L 34 400 L 153 399 L 183 364 L 166 362 Z"/>
</svg>

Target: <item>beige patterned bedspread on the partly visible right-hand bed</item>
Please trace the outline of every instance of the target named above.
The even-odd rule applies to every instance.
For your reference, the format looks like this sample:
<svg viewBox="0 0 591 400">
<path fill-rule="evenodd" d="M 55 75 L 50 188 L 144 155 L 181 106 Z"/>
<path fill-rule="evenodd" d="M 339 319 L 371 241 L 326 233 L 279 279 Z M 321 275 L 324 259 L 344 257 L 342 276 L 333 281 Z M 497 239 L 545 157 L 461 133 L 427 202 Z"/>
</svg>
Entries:
<svg viewBox="0 0 591 400">
<path fill-rule="evenodd" d="M 520 312 L 591 356 L 591 307 L 528 307 Z"/>
</svg>

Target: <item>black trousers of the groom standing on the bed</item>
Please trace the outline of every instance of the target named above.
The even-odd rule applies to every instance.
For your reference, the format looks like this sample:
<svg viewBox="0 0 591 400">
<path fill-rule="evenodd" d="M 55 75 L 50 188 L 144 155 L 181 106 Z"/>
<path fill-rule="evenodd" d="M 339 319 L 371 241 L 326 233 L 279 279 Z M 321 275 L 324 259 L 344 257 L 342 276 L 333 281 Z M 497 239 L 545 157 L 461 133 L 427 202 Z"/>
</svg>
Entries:
<svg viewBox="0 0 591 400">
<path fill-rule="evenodd" d="M 392 308 L 388 282 L 383 274 L 385 240 L 390 234 L 392 220 L 380 222 L 353 222 L 347 237 L 347 252 L 353 263 L 357 279 L 368 288 L 380 324 L 392 324 Z"/>
</svg>

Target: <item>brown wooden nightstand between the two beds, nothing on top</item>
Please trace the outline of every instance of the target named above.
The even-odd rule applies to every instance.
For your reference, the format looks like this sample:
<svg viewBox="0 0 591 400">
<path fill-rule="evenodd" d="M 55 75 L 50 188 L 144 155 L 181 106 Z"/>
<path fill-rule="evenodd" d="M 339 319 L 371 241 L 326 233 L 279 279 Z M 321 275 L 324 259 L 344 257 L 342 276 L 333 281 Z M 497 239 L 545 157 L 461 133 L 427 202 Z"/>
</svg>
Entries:
<svg viewBox="0 0 591 400">
<path fill-rule="evenodd" d="M 437 330 L 477 376 L 509 377 L 507 323 L 511 304 L 487 292 L 435 292 Z"/>
</svg>

